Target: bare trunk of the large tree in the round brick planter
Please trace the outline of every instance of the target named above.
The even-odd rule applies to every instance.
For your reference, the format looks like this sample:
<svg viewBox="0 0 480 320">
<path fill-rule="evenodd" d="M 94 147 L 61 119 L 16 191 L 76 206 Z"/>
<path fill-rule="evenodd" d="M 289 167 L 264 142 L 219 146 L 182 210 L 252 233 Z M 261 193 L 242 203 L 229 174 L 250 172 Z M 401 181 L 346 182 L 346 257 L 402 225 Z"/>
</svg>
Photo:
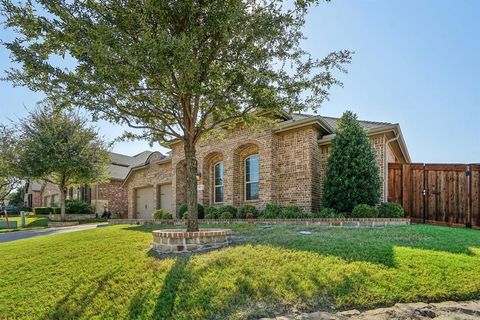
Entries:
<svg viewBox="0 0 480 320">
<path fill-rule="evenodd" d="M 187 163 L 187 231 L 198 231 L 197 204 L 197 158 L 194 142 L 185 142 L 185 161 Z"/>
</svg>

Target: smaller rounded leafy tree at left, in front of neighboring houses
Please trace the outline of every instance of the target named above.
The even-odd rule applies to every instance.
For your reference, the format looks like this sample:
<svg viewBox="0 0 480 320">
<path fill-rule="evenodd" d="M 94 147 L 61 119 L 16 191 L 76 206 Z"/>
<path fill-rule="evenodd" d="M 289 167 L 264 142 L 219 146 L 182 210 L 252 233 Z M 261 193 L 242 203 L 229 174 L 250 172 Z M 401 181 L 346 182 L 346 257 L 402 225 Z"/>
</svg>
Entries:
<svg viewBox="0 0 480 320">
<path fill-rule="evenodd" d="M 58 185 L 62 220 L 69 187 L 102 182 L 109 154 L 86 118 L 48 104 L 21 121 L 18 168 L 21 175 Z"/>
</svg>

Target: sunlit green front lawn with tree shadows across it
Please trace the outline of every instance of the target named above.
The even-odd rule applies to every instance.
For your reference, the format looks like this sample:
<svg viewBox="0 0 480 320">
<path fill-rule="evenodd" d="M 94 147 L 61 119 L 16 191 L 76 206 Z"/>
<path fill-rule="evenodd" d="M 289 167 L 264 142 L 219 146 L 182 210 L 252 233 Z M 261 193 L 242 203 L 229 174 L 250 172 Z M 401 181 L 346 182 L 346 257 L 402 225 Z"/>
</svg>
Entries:
<svg viewBox="0 0 480 320">
<path fill-rule="evenodd" d="M 44 319 L 245 319 L 480 294 L 480 232 L 232 225 L 245 243 L 157 259 L 153 226 L 0 244 L 0 315 Z M 300 230 L 312 235 L 300 235 Z"/>
</svg>

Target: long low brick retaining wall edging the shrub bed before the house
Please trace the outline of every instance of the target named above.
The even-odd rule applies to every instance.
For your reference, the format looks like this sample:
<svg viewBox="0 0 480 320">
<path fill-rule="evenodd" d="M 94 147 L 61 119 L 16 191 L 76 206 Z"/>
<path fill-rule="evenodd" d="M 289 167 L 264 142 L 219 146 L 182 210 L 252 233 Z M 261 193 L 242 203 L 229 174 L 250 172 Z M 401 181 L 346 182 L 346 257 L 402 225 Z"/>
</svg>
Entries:
<svg viewBox="0 0 480 320">
<path fill-rule="evenodd" d="M 342 219 L 199 219 L 199 224 L 231 224 L 231 223 L 271 223 L 271 224 L 305 224 L 323 227 L 388 227 L 410 224 L 410 219 L 388 218 L 342 218 Z M 117 224 L 167 224 L 186 225 L 186 220 L 150 220 L 150 219 L 114 219 L 108 220 L 110 225 Z"/>
</svg>

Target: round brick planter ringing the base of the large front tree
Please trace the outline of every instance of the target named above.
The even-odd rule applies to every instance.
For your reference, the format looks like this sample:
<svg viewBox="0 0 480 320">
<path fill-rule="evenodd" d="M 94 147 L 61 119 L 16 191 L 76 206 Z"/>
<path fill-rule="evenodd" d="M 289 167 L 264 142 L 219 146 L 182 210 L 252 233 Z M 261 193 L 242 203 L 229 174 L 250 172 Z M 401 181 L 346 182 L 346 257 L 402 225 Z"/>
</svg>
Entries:
<svg viewBox="0 0 480 320">
<path fill-rule="evenodd" d="M 220 248 L 228 245 L 230 229 L 200 229 L 187 232 L 181 229 L 152 231 L 153 249 L 159 253 L 180 253 L 208 248 Z"/>
</svg>

